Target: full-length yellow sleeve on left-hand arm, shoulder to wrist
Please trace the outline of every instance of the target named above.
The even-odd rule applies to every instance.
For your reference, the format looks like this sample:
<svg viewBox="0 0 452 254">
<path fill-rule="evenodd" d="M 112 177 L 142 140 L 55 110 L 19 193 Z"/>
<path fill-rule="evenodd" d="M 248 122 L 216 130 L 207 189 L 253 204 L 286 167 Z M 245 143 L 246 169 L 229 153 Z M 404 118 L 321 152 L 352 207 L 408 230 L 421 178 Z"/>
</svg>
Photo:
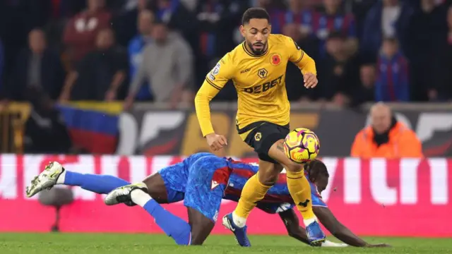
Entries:
<svg viewBox="0 0 452 254">
<path fill-rule="evenodd" d="M 199 126 L 203 136 L 214 133 L 212 122 L 210 121 L 209 103 L 218 95 L 218 92 L 224 87 L 228 80 L 232 79 L 233 63 L 230 60 L 230 54 L 226 54 L 215 67 L 206 75 L 203 85 L 196 93 L 195 108 L 198 117 Z"/>
</svg>

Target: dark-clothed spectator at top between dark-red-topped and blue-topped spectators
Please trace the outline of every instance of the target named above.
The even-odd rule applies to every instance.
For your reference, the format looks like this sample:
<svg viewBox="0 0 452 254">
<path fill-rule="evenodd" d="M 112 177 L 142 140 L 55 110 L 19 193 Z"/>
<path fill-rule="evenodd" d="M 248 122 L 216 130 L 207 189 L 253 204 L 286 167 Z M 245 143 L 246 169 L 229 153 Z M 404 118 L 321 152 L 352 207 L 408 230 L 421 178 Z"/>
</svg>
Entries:
<svg viewBox="0 0 452 254">
<path fill-rule="evenodd" d="M 128 6 L 129 3 L 131 7 Z M 117 35 L 117 43 L 123 47 L 130 45 L 129 42 L 136 39 L 137 34 L 142 33 L 138 16 L 149 8 L 149 0 L 128 1 L 125 8 L 126 11 L 112 19 L 112 28 Z M 138 20 L 138 28 L 136 20 Z"/>
</svg>

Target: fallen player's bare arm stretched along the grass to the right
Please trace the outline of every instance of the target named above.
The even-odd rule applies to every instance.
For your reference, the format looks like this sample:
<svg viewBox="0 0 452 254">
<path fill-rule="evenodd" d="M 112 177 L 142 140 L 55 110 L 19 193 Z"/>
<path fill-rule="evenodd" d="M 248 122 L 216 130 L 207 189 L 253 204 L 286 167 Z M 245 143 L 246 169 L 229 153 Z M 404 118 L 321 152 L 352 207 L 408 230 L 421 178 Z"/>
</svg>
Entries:
<svg viewBox="0 0 452 254">
<path fill-rule="evenodd" d="M 347 229 L 346 226 L 344 226 L 342 223 L 336 219 L 336 217 L 333 215 L 333 212 L 328 207 L 312 207 L 314 210 L 314 214 L 316 214 L 316 217 L 319 219 L 321 224 L 328 229 L 328 231 L 335 236 L 335 238 L 338 238 L 340 241 L 343 241 L 344 243 L 347 243 L 350 246 L 355 247 L 369 247 L 371 246 L 366 241 L 362 240 L 362 238 L 359 238 L 355 234 L 350 231 L 350 229 Z"/>
</svg>

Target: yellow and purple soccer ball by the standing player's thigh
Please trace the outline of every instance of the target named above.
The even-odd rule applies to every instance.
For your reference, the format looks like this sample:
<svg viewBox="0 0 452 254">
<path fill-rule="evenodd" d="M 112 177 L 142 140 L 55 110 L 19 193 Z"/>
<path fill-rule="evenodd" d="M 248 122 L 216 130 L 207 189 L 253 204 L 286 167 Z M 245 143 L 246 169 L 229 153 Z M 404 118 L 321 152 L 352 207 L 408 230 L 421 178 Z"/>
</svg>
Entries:
<svg viewBox="0 0 452 254">
<path fill-rule="evenodd" d="M 314 131 L 296 128 L 284 140 L 284 152 L 293 162 L 304 163 L 316 159 L 319 155 L 320 141 Z"/>
</svg>

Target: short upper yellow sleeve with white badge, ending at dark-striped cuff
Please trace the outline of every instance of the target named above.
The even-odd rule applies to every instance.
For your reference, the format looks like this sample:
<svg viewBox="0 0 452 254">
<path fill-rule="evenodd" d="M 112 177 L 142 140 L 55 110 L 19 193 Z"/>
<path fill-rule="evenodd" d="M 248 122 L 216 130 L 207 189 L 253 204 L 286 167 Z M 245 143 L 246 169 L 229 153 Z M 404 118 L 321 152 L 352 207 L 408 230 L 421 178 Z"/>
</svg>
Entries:
<svg viewBox="0 0 452 254">
<path fill-rule="evenodd" d="M 233 75 L 234 63 L 232 63 L 230 53 L 228 53 L 207 73 L 206 81 L 209 85 L 221 90 L 222 87 L 225 87 L 227 81 L 233 78 Z"/>
</svg>

